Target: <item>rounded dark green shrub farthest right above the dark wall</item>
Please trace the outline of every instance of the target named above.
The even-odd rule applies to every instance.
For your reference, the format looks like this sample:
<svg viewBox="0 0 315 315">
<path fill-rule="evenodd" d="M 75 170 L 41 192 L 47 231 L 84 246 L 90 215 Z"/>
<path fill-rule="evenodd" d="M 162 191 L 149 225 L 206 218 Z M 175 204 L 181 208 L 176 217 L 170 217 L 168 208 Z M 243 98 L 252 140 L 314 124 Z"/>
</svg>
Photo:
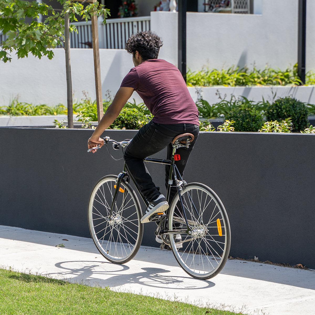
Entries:
<svg viewBox="0 0 315 315">
<path fill-rule="evenodd" d="M 306 104 L 292 97 L 284 97 L 275 100 L 267 106 L 266 120 L 280 121 L 291 118 L 291 132 L 300 132 L 308 127 Z"/>
</svg>

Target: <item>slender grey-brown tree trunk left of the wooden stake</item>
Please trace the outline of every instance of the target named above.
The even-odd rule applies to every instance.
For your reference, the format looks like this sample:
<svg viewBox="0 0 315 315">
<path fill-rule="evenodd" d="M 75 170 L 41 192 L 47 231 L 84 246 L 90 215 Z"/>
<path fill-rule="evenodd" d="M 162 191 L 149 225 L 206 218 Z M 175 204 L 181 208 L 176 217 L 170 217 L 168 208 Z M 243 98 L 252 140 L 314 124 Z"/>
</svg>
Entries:
<svg viewBox="0 0 315 315">
<path fill-rule="evenodd" d="M 69 31 L 69 14 L 68 13 L 65 14 L 65 51 L 66 51 L 68 128 L 73 128 L 72 80 L 71 80 L 71 65 L 70 65 L 70 31 Z"/>
</svg>

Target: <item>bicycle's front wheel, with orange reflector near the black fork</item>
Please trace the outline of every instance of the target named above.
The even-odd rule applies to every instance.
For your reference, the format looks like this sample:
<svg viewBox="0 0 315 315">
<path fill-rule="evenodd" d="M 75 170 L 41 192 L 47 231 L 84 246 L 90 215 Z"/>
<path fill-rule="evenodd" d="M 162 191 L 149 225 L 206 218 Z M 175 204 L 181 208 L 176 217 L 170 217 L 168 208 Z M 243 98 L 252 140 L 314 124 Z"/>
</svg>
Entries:
<svg viewBox="0 0 315 315">
<path fill-rule="evenodd" d="M 109 261 L 123 264 L 131 260 L 141 244 L 141 208 L 132 187 L 122 180 L 110 216 L 117 176 L 101 178 L 89 200 L 89 229 L 99 252 Z"/>
</svg>

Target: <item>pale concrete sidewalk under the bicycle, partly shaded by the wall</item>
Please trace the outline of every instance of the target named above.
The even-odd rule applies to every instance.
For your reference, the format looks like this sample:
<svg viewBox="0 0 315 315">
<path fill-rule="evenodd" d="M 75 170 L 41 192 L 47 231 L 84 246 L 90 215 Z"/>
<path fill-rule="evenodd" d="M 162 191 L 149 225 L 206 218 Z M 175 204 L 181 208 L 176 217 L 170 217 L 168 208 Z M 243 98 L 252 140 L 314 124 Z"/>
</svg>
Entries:
<svg viewBox="0 0 315 315">
<path fill-rule="evenodd" d="M 315 313 L 314 270 L 229 260 L 203 281 L 189 277 L 171 251 L 141 247 L 133 260 L 116 265 L 90 238 L 9 226 L 0 226 L 0 266 L 243 314 Z"/>
</svg>

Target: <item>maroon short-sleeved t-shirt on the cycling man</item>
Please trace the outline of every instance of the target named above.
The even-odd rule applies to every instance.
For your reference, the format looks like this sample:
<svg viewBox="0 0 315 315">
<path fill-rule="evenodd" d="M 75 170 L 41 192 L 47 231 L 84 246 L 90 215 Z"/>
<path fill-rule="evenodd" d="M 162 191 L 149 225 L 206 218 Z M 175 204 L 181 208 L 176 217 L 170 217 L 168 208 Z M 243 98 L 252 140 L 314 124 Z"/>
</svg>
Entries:
<svg viewBox="0 0 315 315">
<path fill-rule="evenodd" d="M 163 59 L 143 61 L 130 70 L 120 86 L 135 89 L 155 123 L 199 125 L 198 109 L 185 80 L 174 65 Z"/>
</svg>

